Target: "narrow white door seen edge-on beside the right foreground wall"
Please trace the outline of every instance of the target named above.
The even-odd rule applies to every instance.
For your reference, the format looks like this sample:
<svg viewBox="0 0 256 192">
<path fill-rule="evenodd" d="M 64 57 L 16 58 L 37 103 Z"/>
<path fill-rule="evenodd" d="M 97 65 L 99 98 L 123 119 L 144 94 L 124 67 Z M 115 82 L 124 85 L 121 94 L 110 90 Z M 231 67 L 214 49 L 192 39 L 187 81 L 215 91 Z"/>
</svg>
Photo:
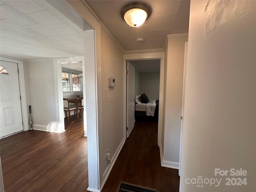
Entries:
<svg viewBox="0 0 256 192">
<path fill-rule="evenodd" d="M 179 163 L 179 175 L 181 167 L 181 144 L 182 144 L 182 129 L 184 119 L 184 102 L 185 102 L 185 86 L 186 86 L 186 69 L 187 69 L 187 55 L 188 55 L 188 42 L 185 42 L 185 54 L 184 54 L 184 72 L 183 72 L 183 93 L 182 93 L 182 110 L 181 110 L 181 129 L 180 129 L 180 163 Z"/>
</svg>

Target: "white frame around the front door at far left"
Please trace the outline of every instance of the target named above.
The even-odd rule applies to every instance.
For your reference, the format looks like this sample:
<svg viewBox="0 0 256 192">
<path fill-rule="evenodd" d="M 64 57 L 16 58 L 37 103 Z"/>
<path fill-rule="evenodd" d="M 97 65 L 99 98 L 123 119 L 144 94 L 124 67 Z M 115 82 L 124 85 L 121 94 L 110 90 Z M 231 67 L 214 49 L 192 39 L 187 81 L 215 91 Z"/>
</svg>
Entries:
<svg viewBox="0 0 256 192">
<path fill-rule="evenodd" d="M 6 62 L 12 62 L 18 64 L 18 80 L 19 80 L 19 88 L 20 88 L 20 104 L 21 104 L 21 116 L 22 116 L 22 128 L 23 131 L 29 130 L 28 126 L 28 107 L 27 107 L 27 100 L 26 100 L 26 87 L 25 87 L 25 75 L 24 75 L 24 64 L 22 60 L 8 58 L 6 56 L 0 56 L 0 60 Z M 4 137 L 3 137 L 4 138 Z"/>
</svg>

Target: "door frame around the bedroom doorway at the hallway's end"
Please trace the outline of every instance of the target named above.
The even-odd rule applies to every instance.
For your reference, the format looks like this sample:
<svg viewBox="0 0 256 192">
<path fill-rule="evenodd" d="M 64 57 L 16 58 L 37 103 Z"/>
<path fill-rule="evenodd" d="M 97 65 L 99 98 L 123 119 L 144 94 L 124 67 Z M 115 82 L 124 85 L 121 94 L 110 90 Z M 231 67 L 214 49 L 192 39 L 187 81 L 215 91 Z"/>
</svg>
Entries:
<svg viewBox="0 0 256 192">
<path fill-rule="evenodd" d="M 159 115 L 158 115 L 158 139 L 157 144 L 161 148 L 162 146 L 162 133 L 164 131 L 164 50 L 161 52 L 147 52 L 147 53 L 134 53 L 125 54 L 124 53 L 124 77 L 126 76 L 126 62 L 131 60 L 150 60 L 150 59 L 160 59 L 160 87 L 159 87 Z M 124 78 L 124 87 L 126 87 L 126 78 Z M 126 140 L 126 117 L 127 117 L 127 92 L 124 89 L 124 140 Z"/>
</svg>

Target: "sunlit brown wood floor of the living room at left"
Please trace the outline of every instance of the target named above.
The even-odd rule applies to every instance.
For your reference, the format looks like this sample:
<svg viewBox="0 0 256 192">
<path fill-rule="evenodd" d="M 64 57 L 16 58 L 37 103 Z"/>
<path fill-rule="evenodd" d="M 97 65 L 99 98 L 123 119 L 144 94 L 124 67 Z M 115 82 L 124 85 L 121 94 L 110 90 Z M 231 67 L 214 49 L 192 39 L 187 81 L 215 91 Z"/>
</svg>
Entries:
<svg viewBox="0 0 256 192">
<path fill-rule="evenodd" d="M 84 192 L 88 188 L 83 118 L 66 131 L 21 132 L 0 140 L 5 192 Z"/>
</svg>

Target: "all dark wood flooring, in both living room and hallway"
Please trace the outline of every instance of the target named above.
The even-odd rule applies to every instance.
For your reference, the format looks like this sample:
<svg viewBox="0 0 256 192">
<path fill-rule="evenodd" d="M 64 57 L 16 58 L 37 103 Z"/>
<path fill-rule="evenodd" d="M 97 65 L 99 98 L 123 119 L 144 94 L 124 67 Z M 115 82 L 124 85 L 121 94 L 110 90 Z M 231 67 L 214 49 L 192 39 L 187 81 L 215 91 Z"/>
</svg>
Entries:
<svg viewBox="0 0 256 192">
<path fill-rule="evenodd" d="M 0 140 L 5 192 L 86 192 L 83 119 L 65 127 L 61 134 L 31 130 Z M 178 170 L 160 165 L 157 123 L 136 122 L 102 192 L 116 192 L 120 181 L 178 192 L 179 180 Z"/>
</svg>

